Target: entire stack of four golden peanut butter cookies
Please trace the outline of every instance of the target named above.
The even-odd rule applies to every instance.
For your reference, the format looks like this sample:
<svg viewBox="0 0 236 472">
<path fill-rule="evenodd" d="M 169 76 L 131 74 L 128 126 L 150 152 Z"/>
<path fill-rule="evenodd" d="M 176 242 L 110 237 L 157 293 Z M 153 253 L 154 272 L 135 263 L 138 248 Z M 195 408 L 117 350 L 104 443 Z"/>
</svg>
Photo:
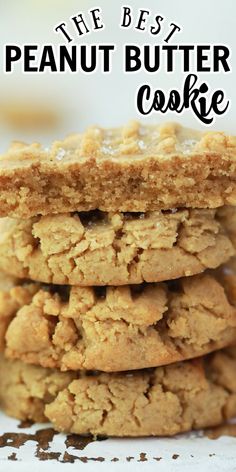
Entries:
<svg viewBox="0 0 236 472">
<path fill-rule="evenodd" d="M 0 160 L 0 400 L 59 431 L 236 415 L 236 140 L 178 125 Z"/>
</svg>

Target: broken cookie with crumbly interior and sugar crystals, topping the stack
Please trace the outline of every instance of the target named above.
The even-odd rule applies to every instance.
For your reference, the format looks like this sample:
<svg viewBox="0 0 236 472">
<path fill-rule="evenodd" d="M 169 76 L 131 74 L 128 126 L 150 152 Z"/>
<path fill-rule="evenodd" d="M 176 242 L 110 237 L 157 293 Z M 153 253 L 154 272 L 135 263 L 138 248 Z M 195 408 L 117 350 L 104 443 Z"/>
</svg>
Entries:
<svg viewBox="0 0 236 472">
<path fill-rule="evenodd" d="M 0 216 L 236 204 L 236 138 L 177 124 L 90 128 L 0 158 Z"/>
</svg>

